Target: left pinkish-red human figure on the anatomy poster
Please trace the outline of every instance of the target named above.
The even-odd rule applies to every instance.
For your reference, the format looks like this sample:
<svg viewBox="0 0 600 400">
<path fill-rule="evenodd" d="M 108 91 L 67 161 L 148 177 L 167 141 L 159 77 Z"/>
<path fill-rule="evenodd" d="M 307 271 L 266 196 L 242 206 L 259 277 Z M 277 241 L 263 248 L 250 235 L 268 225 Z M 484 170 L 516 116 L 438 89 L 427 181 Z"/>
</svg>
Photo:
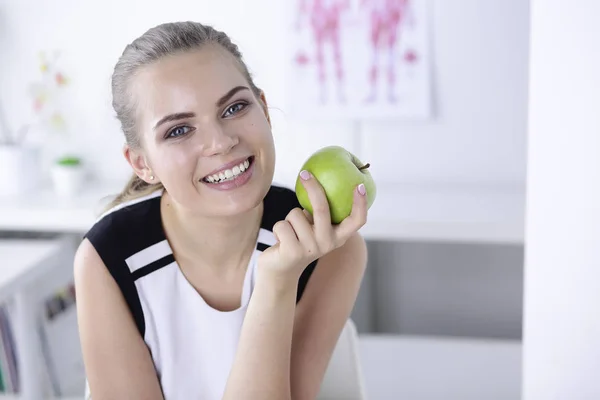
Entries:
<svg viewBox="0 0 600 400">
<path fill-rule="evenodd" d="M 320 100 L 327 100 L 327 74 L 325 61 L 325 47 L 330 44 L 333 55 L 338 100 L 345 102 L 344 65 L 341 51 L 340 19 L 344 11 L 349 9 L 349 0 L 299 0 L 300 15 L 308 15 L 313 34 L 316 67 L 318 71 Z M 306 63 L 306 59 L 297 59 L 297 62 Z"/>
</svg>

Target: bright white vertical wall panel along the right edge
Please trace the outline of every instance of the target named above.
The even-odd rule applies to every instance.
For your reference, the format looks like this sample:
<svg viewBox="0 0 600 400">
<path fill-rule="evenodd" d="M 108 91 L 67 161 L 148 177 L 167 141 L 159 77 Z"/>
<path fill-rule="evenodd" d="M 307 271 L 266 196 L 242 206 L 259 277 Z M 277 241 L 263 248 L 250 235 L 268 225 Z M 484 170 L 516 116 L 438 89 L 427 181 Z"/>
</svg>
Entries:
<svg viewBox="0 0 600 400">
<path fill-rule="evenodd" d="M 600 398 L 599 19 L 532 5 L 524 400 Z"/>
</svg>

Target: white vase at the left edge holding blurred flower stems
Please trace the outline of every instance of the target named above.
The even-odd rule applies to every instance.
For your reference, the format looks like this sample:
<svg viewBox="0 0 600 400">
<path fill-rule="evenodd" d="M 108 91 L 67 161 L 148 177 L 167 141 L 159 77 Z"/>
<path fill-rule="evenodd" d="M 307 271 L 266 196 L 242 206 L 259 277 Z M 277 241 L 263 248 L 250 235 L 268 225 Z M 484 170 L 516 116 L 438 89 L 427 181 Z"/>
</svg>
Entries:
<svg viewBox="0 0 600 400">
<path fill-rule="evenodd" d="M 0 196 L 30 194 L 40 181 L 36 147 L 0 145 Z"/>
</svg>

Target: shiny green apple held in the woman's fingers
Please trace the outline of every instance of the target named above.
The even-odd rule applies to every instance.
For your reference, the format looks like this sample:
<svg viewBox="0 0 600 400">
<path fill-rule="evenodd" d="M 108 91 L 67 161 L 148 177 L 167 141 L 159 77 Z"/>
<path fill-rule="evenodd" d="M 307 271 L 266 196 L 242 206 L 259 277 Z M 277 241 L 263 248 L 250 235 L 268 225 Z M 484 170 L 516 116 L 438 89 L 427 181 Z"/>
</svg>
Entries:
<svg viewBox="0 0 600 400">
<path fill-rule="evenodd" d="M 302 170 L 310 172 L 323 186 L 331 222 L 339 224 L 350 215 L 354 200 L 354 190 L 359 184 L 367 189 L 367 205 L 370 208 L 377 194 L 375 182 L 368 170 L 369 164 L 363 164 L 354 154 L 340 146 L 328 146 L 311 155 Z M 296 197 L 300 205 L 313 213 L 308 193 L 300 177 L 296 180 Z"/>
</svg>

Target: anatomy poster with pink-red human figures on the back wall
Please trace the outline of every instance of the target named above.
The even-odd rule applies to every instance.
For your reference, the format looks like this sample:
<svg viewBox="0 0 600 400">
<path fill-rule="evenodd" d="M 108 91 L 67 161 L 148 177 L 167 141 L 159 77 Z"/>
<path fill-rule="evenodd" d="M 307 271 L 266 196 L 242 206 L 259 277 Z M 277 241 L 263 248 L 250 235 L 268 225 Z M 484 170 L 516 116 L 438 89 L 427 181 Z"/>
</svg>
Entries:
<svg viewBox="0 0 600 400">
<path fill-rule="evenodd" d="M 288 1 L 290 114 L 430 116 L 426 0 Z"/>
</svg>

